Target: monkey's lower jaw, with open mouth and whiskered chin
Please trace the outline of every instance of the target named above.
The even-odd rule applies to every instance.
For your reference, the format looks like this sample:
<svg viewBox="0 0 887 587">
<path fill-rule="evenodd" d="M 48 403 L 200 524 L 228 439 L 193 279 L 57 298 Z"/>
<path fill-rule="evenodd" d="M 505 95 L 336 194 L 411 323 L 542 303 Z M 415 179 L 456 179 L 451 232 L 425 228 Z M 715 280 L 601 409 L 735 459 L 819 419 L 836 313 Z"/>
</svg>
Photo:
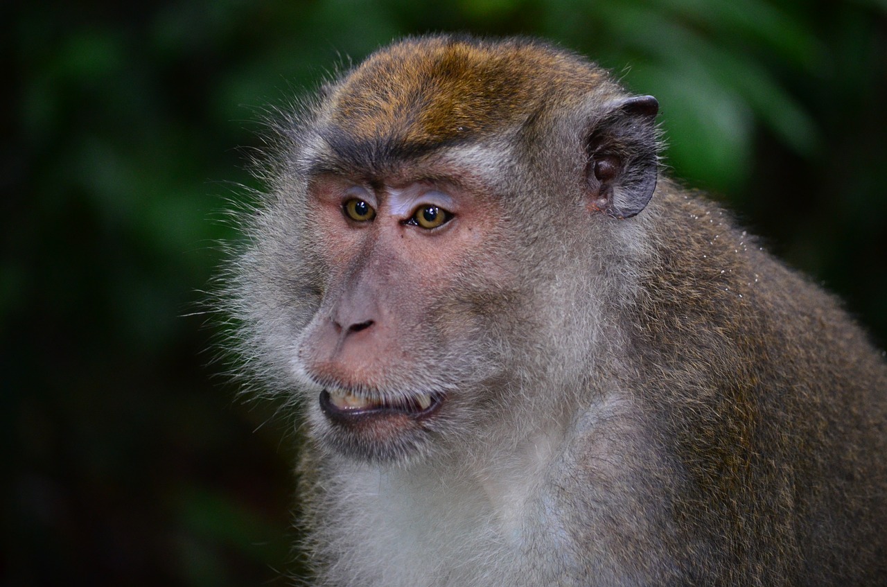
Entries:
<svg viewBox="0 0 887 587">
<path fill-rule="evenodd" d="M 374 463 L 404 462 L 422 454 L 431 441 L 441 394 L 389 398 L 320 392 L 320 410 L 329 424 L 324 442 L 350 458 Z"/>
</svg>

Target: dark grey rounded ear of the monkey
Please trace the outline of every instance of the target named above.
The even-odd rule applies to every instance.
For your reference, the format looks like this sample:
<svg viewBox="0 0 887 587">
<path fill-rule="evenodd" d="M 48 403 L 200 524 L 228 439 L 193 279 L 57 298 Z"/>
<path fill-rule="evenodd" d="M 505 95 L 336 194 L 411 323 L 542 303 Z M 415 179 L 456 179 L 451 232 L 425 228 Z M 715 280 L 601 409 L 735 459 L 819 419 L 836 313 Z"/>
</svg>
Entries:
<svg viewBox="0 0 887 587">
<path fill-rule="evenodd" d="M 659 102 L 652 96 L 621 98 L 595 122 L 586 142 L 590 208 L 630 218 L 647 207 L 658 173 L 658 112 Z"/>
</svg>

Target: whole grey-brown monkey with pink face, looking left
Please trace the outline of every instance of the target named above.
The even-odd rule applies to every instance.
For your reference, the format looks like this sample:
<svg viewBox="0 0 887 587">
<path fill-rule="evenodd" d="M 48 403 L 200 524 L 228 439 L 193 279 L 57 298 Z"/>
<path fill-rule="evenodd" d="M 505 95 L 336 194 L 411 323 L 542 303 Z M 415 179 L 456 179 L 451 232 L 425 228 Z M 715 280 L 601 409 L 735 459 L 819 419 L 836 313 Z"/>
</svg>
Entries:
<svg viewBox="0 0 887 587">
<path fill-rule="evenodd" d="M 883 353 L 666 176 L 658 110 L 428 35 L 273 123 L 225 303 L 314 584 L 887 584 Z"/>
</svg>

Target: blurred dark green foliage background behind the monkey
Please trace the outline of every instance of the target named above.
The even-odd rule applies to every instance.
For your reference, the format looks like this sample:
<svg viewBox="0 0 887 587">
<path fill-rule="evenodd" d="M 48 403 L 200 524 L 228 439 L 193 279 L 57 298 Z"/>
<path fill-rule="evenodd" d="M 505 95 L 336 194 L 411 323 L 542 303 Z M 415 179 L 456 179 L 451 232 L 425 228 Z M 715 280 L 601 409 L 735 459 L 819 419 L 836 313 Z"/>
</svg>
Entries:
<svg viewBox="0 0 887 587">
<path fill-rule="evenodd" d="M 0 585 L 282 585 L 291 423 L 200 315 L 257 121 L 380 44 L 541 35 L 887 340 L 887 0 L 5 2 Z"/>
</svg>

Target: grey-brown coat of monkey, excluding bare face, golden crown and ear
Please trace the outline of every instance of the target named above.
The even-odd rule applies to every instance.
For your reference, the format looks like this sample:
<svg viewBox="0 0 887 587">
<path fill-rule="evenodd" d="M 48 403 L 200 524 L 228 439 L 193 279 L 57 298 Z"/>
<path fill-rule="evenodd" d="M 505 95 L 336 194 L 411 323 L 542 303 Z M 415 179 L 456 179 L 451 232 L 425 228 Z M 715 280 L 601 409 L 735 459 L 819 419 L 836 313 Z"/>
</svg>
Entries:
<svg viewBox="0 0 887 587">
<path fill-rule="evenodd" d="M 585 207 L 583 145 L 624 95 L 608 78 L 582 99 L 550 88 L 573 106 L 549 96 L 506 129 L 373 164 L 455 166 L 496 186 L 502 214 L 404 341 L 417 363 L 378 392 L 446 393 L 440 418 L 393 454 L 343 447 L 304 364 L 333 295 L 305 205 L 351 75 L 280 124 L 228 296 L 247 379 L 305 422 L 316 584 L 887 584 L 882 354 L 832 296 L 663 176 L 632 218 Z M 655 150 L 652 130 L 638 137 L 620 148 Z"/>
</svg>

